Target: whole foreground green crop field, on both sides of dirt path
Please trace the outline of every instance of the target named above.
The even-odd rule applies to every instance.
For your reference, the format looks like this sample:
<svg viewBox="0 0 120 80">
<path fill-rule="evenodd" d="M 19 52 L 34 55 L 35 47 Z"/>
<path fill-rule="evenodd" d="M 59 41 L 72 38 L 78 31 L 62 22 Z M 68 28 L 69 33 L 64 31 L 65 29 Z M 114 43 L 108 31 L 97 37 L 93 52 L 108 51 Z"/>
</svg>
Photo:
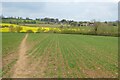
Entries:
<svg viewBox="0 0 120 80">
<path fill-rule="evenodd" d="M 3 55 L 7 54 L 3 57 L 5 66 L 3 77 L 13 77 L 14 66 L 20 61 L 17 50 L 25 35 L 26 33 L 3 33 Z M 54 33 L 27 33 L 27 35 L 24 42 L 27 46 L 24 56 L 27 57 L 23 61 L 26 67 L 22 68 L 24 72 L 17 77 L 118 76 L 117 37 Z"/>
</svg>

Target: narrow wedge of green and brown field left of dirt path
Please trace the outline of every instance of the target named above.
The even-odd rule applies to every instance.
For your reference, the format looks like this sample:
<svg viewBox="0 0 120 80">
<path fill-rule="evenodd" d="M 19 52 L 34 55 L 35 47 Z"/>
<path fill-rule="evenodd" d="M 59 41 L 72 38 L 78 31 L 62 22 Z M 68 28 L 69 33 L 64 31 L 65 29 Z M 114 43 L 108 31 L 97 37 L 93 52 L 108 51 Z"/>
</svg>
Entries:
<svg viewBox="0 0 120 80">
<path fill-rule="evenodd" d="M 3 77 L 12 75 L 12 67 L 18 59 L 17 50 L 25 34 L 2 33 L 2 66 Z"/>
</svg>

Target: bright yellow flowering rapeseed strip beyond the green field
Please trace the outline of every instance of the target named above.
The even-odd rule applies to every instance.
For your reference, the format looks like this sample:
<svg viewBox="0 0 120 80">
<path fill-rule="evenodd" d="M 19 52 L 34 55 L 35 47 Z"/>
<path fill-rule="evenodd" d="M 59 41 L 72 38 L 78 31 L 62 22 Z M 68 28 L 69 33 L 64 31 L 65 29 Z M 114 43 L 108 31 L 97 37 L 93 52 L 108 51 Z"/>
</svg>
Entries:
<svg viewBox="0 0 120 80">
<path fill-rule="evenodd" d="M 2 26 L 0 28 L 0 32 L 49 32 L 49 31 L 55 31 L 55 32 L 62 32 L 62 30 L 65 29 L 60 29 L 60 28 L 51 28 L 51 27 L 29 27 L 29 26 L 20 26 L 16 24 L 8 24 L 8 23 L 2 23 L 0 24 Z M 69 28 L 67 29 L 68 31 L 80 31 L 79 28 Z"/>
</svg>

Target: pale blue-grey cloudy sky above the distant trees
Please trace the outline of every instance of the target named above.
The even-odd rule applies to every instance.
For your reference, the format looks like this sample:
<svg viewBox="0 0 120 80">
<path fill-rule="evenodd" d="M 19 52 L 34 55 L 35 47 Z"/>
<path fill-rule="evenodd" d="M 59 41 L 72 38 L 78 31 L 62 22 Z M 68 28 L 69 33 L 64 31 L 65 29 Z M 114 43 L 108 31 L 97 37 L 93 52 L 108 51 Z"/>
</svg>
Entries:
<svg viewBox="0 0 120 80">
<path fill-rule="evenodd" d="M 9 1 L 9 0 L 8 0 Z M 114 21 L 118 19 L 118 3 L 109 2 L 2 2 L 4 16 L 58 18 L 76 21 Z M 107 0 L 106 0 L 107 1 Z"/>
</svg>

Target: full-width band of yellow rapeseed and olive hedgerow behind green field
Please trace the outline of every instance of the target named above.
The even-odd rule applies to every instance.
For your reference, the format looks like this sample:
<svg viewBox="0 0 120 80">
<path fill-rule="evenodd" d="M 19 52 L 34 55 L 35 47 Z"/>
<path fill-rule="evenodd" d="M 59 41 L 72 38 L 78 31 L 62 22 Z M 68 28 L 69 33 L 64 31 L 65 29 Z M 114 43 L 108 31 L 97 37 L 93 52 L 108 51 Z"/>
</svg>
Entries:
<svg viewBox="0 0 120 80">
<path fill-rule="evenodd" d="M 15 33 L 61 33 L 61 34 L 84 34 L 84 35 L 102 35 L 102 36 L 119 36 L 118 26 L 99 25 L 95 26 L 60 26 L 57 24 L 0 24 L 0 32 Z M 58 27 L 59 26 L 59 27 Z M 95 28 L 97 31 L 95 31 Z"/>
</svg>

